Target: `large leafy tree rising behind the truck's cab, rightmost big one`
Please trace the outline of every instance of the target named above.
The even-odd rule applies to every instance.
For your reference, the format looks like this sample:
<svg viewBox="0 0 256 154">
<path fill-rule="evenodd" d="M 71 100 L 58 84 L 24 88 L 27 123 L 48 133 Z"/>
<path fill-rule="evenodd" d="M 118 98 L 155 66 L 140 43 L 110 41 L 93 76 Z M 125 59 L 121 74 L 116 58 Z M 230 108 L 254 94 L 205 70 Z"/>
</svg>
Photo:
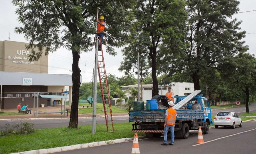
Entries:
<svg viewBox="0 0 256 154">
<path fill-rule="evenodd" d="M 170 63 L 162 67 L 167 68 L 164 72 L 187 71 L 195 90 L 199 90 L 200 79 L 214 72 L 225 56 L 247 50 L 241 21 L 232 18 L 239 11 L 238 5 L 238 0 L 187 0 L 186 48 L 170 50 L 165 57 Z"/>
</svg>

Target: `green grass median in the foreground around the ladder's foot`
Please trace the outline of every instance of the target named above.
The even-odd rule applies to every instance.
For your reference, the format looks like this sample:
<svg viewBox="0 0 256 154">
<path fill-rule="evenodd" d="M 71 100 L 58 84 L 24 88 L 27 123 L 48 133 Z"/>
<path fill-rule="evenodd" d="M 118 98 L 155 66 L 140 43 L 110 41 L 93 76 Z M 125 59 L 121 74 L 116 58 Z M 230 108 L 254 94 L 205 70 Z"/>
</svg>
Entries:
<svg viewBox="0 0 256 154">
<path fill-rule="evenodd" d="M 0 136 L 0 153 L 7 154 L 134 137 L 134 133 L 131 132 L 132 123 L 114 124 L 114 128 L 114 133 L 107 133 L 106 125 L 96 125 L 96 134 L 92 134 L 92 126 L 86 125 L 80 126 L 79 129 L 67 127 L 35 129 L 32 134 Z M 143 135 L 145 133 L 138 133 L 138 136 Z"/>
</svg>

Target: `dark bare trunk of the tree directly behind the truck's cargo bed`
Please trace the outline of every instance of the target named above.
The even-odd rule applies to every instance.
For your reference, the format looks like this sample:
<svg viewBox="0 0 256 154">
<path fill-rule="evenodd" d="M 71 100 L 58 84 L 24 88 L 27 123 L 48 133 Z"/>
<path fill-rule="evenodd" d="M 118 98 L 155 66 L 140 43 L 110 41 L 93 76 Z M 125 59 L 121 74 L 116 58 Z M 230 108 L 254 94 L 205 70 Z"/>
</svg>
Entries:
<svg viewBox="0 0 256 154">
<path fill-rule="evenodd" d="M 156 51 L 155 51 L 156 52 Z M 155 53 L 154 52 L 154 53 Z M 158 81 L 157 81 L 157 61 L 156 61 L 156 54 L 152 54 L 151 56 L 152 60 L 152 81 L 153 81 L 153 87 L 152 87 L 152 97 L 155 95 L 158 95 Z"/>
</svg>

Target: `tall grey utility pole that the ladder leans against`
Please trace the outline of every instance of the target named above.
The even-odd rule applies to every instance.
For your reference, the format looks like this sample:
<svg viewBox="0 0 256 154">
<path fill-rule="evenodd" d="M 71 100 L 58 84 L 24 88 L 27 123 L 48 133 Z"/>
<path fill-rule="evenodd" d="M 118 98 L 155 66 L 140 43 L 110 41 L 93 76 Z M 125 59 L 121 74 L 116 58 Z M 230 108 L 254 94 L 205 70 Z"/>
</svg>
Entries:
<svg viewBox="0 0 256 154">
<path fill-rule="evenodd" d="M 98 10 L 96 13 L 96 19 L 98 19 Z M 97 24 L 96 24 L 97 31 Z M 92 124 L 92 134 L 96 133 L 96 105 L 97 105 L 97 67 L 98 67 L 98 44 L 99 39 L 97 34 L 95 34 L 96 48 L 95 48 L 95 66 L 94 66 L 94 96 L 93 96 L 93 124 Z"/>
</svg>

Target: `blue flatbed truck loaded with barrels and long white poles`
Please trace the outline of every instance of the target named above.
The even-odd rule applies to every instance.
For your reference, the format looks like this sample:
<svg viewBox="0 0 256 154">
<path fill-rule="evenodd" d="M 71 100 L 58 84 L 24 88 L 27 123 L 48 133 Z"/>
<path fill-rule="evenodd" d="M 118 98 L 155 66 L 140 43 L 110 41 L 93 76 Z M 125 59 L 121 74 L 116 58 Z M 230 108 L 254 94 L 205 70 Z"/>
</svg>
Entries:
<svg viewBox="0 0 256 154">
<path fill-rule="evenodd" d="M 213 124 L 211 107 L 203 95 L 197 95 L 200 92 L 201 90 L 196 90 L 188 96 L 174 97 L 173 108 L 177 111 L 174 128 L 176 138 L 187 139 L 189 130 L 198 130 L 199 126 L 203 134 L 208 134 L 208 125 Z M 156 95 L 152 99 L 158 100 L 159 109 L 130 111 L 129 122 L 134 122 L 132 132 L 144 132 L 147 137 L 160 137 L 164 130 L 168 98 Z"/>
</svg>

